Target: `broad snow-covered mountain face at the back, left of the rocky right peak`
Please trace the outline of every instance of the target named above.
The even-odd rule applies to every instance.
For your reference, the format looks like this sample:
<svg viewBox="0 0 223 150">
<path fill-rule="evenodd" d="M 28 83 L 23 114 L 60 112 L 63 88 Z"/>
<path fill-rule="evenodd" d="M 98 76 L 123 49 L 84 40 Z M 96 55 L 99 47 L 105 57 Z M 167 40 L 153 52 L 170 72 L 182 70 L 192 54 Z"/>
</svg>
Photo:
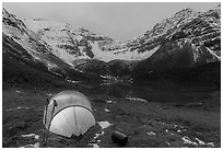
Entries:
<svg viewBox="0 0 223 150">
<path fill-rule="evenodd" d="M 157 49 L 157 47 L 155 47 L 153 50 L 144 53 L 139 53 L 138 50 L 132 51 L 122 43 L 116 43 L 111 38 L 96 35 L 84 28 L 73 28 L 68 23 L 42 19 L 17 19 L 4 9 L 2 15 L 3 34 L 13 38 L 20 36 L 17 38 L 22 39 L 23 37 L 21 37 L 20 34 L 26 33 L 27 36 L 31 36 L 44 45 L 48 51 L 51 51 L 70 66 L 72 66 L 72 61 L 77 59 L 95 58 L 106 62 L 114 59 L 141 60 L 150 57 Z M 14 24 L 22 23 L 23 26 L 14 28 L 15 26 L 7 24 L 5 20 L 12 20 Z M 24 36 L 24 38 L 27 37 Z M 30 47 L 25 39 L 23 39 L 21 44 L 23 44 L 24 47 Z"/>
</svg>

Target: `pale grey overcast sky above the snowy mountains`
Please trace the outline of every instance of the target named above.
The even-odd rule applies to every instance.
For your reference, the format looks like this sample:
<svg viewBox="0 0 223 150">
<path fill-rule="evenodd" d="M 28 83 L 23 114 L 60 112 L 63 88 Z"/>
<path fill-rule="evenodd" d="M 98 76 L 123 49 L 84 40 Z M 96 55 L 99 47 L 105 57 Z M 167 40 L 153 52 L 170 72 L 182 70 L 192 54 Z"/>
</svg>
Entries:
<svg viewBox="0 0 223 150">
<path fill-rule="evenodd" d="M 214 2 L 124 2 L 124 3 L 2 3 L 9 12 L 25 19 L 48 19 L 67 22 L 115 39 L 129 39 L 144 34 L 155 23 L 190 8 L 207 11 L 218 5 Z"/>
</svg>

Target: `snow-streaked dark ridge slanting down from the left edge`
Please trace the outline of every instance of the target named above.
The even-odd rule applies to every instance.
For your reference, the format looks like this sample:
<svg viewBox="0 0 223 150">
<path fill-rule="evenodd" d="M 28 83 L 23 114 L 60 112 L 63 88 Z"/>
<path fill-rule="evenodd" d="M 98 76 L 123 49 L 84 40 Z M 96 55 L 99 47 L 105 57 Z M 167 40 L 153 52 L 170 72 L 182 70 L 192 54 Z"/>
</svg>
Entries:
<svg viewBox="0 0 223 150">
<path fill-rule="evenodd" d="M 51 47 L 40 41 L 38 34 L 27 28 L 22 20 L 19 20 L 4 9 L 2 12 L 2 35 L 3 39 L 5 38 L 24 48 L 27 55 L 31 56 L 31 60 L 43 62 L 49 70 L 68 66 L 63 60 L 52 54 L 54 50 Z M 9 43 L 4 44 L 9 45 Z M 11 53 L 7 50 L 3 49 L 3 53 Z"/>
</svg>

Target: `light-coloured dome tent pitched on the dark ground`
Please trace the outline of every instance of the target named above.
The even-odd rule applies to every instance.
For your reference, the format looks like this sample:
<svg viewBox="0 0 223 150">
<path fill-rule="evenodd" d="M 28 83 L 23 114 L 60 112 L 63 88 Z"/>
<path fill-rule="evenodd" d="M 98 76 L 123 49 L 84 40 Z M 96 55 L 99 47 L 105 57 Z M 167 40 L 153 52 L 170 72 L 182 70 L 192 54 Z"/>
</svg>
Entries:
<svg viewBox="0 0 223 150">
<path fill-rule="evenodd" d="M 81 136 L 95 125 L 90 101 L 72 90 L 62 91 L 48 101 L 43 122 L 48 131 L 69 138 Z"/>
</svg>

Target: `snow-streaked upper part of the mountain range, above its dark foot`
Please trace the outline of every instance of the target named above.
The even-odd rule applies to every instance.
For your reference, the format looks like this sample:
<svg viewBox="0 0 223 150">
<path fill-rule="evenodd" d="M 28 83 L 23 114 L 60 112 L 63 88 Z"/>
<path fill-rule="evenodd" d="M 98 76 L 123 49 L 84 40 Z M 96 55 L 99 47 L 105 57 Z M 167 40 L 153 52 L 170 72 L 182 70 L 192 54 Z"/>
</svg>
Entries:
<svg viewBox="0 0 223 150">
<path fill-rule="evenodd" d="M 2 43 L 20 45 L 31 56 L 25 59 L 60 74 L 67 68 L 103 76 L 192 68 L 221 60 L 220 10 L 220 5 L 207 12 L 185 9 L 137 38 L 116 42 L 68 23 L 19 19 L 3 9 Z"/>
</svg>

